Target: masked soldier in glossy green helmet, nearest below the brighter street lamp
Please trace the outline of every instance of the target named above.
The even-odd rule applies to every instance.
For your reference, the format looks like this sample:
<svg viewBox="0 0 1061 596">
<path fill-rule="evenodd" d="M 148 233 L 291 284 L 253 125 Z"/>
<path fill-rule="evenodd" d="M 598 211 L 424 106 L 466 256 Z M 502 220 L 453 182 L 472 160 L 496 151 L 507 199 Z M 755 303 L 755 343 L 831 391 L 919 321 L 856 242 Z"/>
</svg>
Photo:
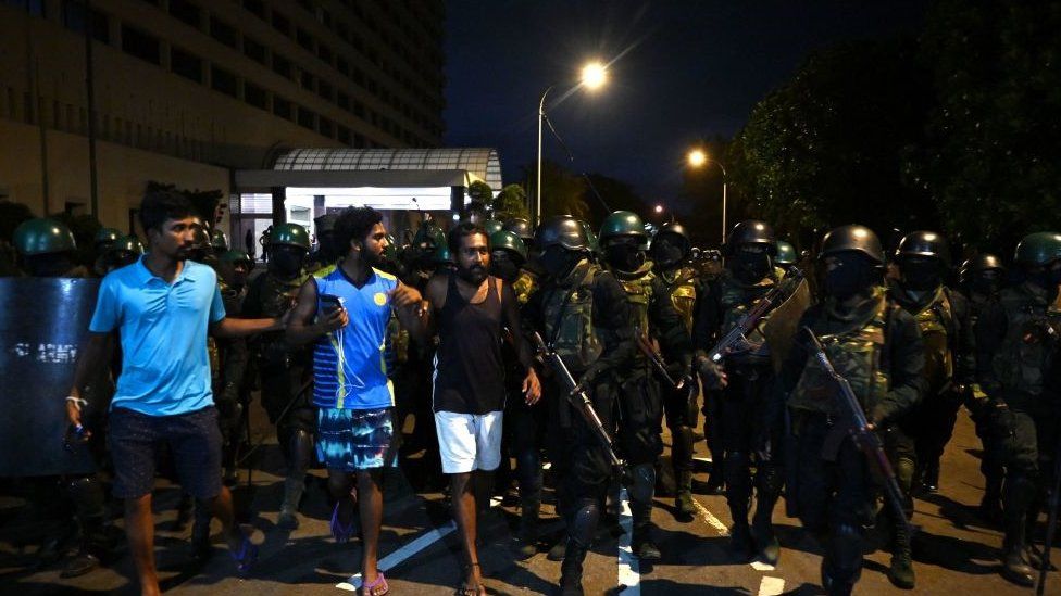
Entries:
<svg viewBox="0 0 1061 596">
<path fill-rule="evenodd" d="M 657 340 L 664 353 L 681 367 L 689 365 L 691 375 L 692 343 L 682 316 L 670 296 L 658 292 L 652 263 L 646 249 L 648 234 L 641 218 L 628 211 L 609 215 L 600 228 L 600 244 L 608 270 L 619 280 L 631 303 L 631 316 L 649 341 Z M 649 358 L 636 352 L 633 366 L 624 371 L 619 395 L 620 446 L 631 464 L 631 512 L 634 529 L 631 540 L 634 554 L 645 560 L 661 557 L 652 541 L 652 497 L 656 491 L 656 462 L 663 453 L 661 438 L 663 398 Z"/>
</svg>

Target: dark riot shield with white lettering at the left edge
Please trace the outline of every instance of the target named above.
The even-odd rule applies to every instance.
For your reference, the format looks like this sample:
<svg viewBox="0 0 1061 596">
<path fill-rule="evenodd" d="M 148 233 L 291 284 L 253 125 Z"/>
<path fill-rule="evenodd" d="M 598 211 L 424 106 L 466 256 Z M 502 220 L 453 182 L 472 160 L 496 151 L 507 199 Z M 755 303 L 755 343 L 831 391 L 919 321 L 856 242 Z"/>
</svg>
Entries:
<svg viewBox="0 0 1061 596">
<path fill-rule="evenodd" d="M 90 473 L 86 444 L 64 446 L 66 403 L 100 280 L 0 278 L 0 477 Z M 110 397 L 105 367 L 86 392 L 93 432 Z M 99 438 L 102 434 L 100 433 Z"/>
</svg>

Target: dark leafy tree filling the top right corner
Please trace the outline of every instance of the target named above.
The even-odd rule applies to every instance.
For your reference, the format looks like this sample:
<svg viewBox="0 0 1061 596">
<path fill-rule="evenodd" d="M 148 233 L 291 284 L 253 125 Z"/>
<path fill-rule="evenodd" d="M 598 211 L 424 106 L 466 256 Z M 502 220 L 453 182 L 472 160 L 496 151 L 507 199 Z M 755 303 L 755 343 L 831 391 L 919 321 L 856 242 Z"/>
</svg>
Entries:
<svg viewBox="0 0 1061 596">
<path fill-rule="evenodd" d="M 1061 2 L 940 0 L 921 58 L 935 105 L 907 175 L 939 205 L 945 231 L 1006 252 L 1061 229 Z"/>
</svg>

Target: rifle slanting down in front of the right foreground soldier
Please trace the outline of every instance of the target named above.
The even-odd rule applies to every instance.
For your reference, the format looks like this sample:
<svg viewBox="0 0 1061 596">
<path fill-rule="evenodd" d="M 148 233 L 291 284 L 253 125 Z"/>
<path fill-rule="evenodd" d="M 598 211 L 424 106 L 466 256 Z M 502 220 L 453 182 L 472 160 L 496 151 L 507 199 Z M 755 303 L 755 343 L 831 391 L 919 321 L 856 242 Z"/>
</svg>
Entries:
<svg viewBox="0 0 1061 596">
<path fill-rule="evenodd" d="M 822 343 L 817 341 L 814 332 L 807 327 L 803 328 L 803 332 L 807 333 L 807 337 L 811 341 L 811 350 L 813 350 L 812 357 L 817 360 L 819 366 L 836 383 L 839 390 L 837 404 L 839 404 L 842 410 L 842 419 L 834 428 L 834 433 L 836 434 L 825 440 L 825 446 L 822 448 L 822 457 L 826 461 L 835 461 L 842 439 L 846 435 L 850 435 L 851 441 L 854 442 L 854 446 L 862 452 L 862 455 L 869 461 L 873 474 L 884 485 L 884 497 L 888 506 L 891 507 L 895 519 L 902 520 L 903 524 L 909 524 L 907 513 L 902 508 L 902 492 L 899 490 L 899 483 L 896 482 L 895 471 L 891 470 L 888 456 L 884 453 L 881 438 L 869 428 L 870 422 L 865 419 L 865 413 L 862 411 L 862 405 L 859 403 L 858 397 L 856 397 L 854 391 L 851 390 L 851 383 L 833 368 L 833 363 L 825 355 L 825 350 L 822 347 Z"/>
</svg>

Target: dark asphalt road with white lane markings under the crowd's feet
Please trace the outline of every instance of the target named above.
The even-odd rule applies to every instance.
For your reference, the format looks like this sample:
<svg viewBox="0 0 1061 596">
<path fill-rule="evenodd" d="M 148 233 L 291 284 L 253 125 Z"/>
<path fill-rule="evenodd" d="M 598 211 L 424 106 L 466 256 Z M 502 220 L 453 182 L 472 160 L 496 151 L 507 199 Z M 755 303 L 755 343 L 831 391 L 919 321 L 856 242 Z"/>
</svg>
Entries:
<svg viewBox="0 0 1061 596">
<path fill-rule="evenodd" d="M 283 462 L 271 430 L 255 413 L 254 432 L 265 444 L 257 452 L 250 489 L 247 472 L 237 499 L 248 519 L 266 537 L 261 558 L 248 579 L 238 579 L 225 547 L 215 543 L 215 556 L 199 569 L 187 565 L 190 530 L 173 532 L 174 505 L 178 492 L 160 482 L 155 509 L 158 560 L 163 586 L 174 594 L 337 594 L 358 572 L 357 542 L 336 545 L 328 535 L 328 510 L 323 470 L 302 504 L 302 524 L 295 532 L 275 527 L 283 490 Z M 977 519 L 975 505 L 983 492 L 978 471 L 979 442 L 972 423 L 962 414 L 953 440 L 947 447 L 938 495 L 916 500 L 914 523 L 921 527 L 914 543 L 919 594 L 1028 594 L 999 574 L 1001 534 Z M 698 455 L 706 457 L 702 442 Z M 413 460 L 403 471 L 387 479 L 388 494 L 382 533 L 380 561 L 394 594 L 452 594 L 461 581 L 461 555 L 445 496 L 414 493 L 407 479 L 425 477 Z M 702 480 L 703 475 L 699 475 Z M 663 560 L 638 566 L 628 553 L 628 533 L 602 530 L 586 561 L 587 594 L 819 594 L 821 548 L 797 520 L 785 517 L 783 503 L 774 519 L 782 543 L 776 568 L 735 560 L 727 551 L 729 518 L 725 499 L 697 495 L 700 505 L 695 520 L 683 523 L 673 516 L 673 499 L 660 497 L 653 519 Z M 510 554 L 519 511 L 499 499 L 480 517 L 480 560 L 486 583 L 495 594 L 548 593 L 560 575 L 560 563 L 546 559 L 548 537 L 559 527 L 551 506 L 546 507 L 545 527 L 551 532 L 542 551 L 526 561 Z M 628 517 L 621 518 L 628 529 Z M 121 523 L 121 522 L 118 522 Z M 214 530 L 220 525 L 214 522 Z M 132 562 L 124 549 L 109 568 L 88 575 L 59 579 L 59 565 L 34 568 L 35 536 L 40 528 L 28 518 L 24 503 L 0 499 L 0 593 L 36 594 L 114 593 L 136 594 Z M 216 537 L 216 536 L 215 536 Z M 625 550 L 624 550 L 625 548 Z M 1061 557 L 1061 555 L 1059 555 Z M 902 593 L 891 586 L 885 573 L 889 556 L 876 550 L 866 557 L 858 594 Z M 1058 560 L 1061 560 L 1059 558 Z M 1048 594 L 1061 594 L 1061 574 L 1053 572 Z"/>
</svg>

